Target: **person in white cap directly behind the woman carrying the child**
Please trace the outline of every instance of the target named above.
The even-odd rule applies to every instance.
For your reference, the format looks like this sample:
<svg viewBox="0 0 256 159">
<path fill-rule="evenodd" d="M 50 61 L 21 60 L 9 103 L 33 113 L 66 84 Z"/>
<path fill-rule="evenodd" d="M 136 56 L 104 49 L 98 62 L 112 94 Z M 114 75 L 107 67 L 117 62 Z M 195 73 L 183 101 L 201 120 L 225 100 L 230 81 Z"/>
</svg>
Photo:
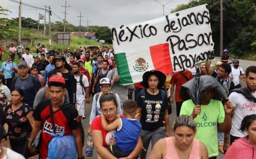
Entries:
<svg viewBox="0 0 256 159">
<path fill-rule="evenodd" d="M 109 78 L 102 78 L 99 81 L 99 85 L 101 88 L 101 92 L 96 93 L 93 96 L 93 105 L 92 105 L 92 111 L 90 115 L 90 121 L 89 121 L 89 128 L 88 128 L 88 134 L 91 134 L 91 124 L 93 122 L 93 119 L 96 118 L 97 116 L 100 116 L 102 114 L 101 106 L 100 106 L 100 97 L 102 94 L 105 94 L 107 92 L 110 92 L 110 79 Z M 116 101 L 117 101 L 117 114 L 122 114 L 122 109 L 121 109 L 121 104 L 120 104 L 120 98 L 118 94 L 114 94 Z"/>
</svg>

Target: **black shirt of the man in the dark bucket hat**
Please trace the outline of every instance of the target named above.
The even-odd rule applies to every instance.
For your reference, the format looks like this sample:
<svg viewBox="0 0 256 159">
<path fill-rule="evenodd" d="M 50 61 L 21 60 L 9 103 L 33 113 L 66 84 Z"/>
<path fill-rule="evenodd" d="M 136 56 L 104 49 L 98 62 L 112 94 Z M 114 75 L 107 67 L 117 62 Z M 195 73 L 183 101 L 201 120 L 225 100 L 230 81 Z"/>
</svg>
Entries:
<svg viewBox="0 0 256 159">
<path fill-rule="evenodd" d="M 68 92 L 69 101 L 72 105 L 76 102 L 76 79 L 74 74 L 69 71 L 68 73 L 62 73 L 62 77 L 66 82 L 66 89 Z"/>
</svg>

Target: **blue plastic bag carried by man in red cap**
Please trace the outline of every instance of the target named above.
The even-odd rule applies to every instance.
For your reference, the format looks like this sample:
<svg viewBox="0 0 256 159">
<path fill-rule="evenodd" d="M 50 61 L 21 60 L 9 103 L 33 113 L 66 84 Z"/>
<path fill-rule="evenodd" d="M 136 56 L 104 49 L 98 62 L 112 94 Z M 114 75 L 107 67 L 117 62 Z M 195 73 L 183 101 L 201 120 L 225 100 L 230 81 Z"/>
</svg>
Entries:
<svg viewBox="0 0 256 159">
<path fill-rule="evenodd" d="M 76 159 L 77 151 L 73 135 L 48 134 L 53 135 L 54 138 L 49 143 L 47 159 Z"/>
</svg>

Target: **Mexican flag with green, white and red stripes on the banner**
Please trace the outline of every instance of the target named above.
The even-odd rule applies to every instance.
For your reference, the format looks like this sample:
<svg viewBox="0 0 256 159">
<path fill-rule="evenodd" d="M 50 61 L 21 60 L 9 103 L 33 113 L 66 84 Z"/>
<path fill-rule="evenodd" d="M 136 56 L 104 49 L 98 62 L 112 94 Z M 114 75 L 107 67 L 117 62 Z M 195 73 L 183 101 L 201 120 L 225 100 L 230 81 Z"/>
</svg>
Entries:
<svg viewBox="0 0 256 159">
<path fill-rule="evenodd" d="M 140 82 L 145 71 L 157 70 L 165 75 L 173 72 L 168 43 L 150 46 L 137 54 L 115 54 L 115 59 L 120 76 L 119 84 Z"/>
</svg>

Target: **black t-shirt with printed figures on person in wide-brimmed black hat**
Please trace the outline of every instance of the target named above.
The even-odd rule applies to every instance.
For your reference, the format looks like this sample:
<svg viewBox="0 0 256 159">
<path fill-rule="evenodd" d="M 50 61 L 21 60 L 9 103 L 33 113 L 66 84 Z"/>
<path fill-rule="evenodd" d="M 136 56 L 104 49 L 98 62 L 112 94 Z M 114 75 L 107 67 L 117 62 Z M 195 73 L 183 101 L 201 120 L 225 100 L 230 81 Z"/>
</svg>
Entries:
<svg viewBox="0 0 256 159">
<path fill-rule="evenodd" d="M 143 130 L 154 131 L 164 126 L 164 113 L 168 109 L 168 100 L 165 95 L 162 99 L 161 92 L 151 95 L 146 90 L 145 101 L 142 104 L 141 92 L 137 96 L 137 105 L 141 107 L 141 126 Z"/>
</svg>

